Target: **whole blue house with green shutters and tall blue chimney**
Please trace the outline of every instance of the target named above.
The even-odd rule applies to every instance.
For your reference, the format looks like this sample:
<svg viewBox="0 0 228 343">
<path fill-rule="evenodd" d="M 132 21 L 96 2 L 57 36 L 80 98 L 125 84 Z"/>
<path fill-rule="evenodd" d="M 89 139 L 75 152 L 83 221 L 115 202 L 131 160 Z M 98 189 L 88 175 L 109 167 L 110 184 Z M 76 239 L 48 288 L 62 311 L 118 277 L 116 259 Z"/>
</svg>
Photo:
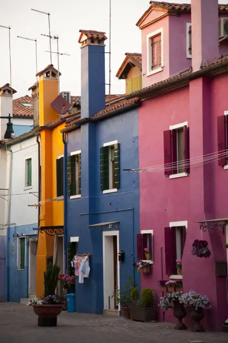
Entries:
<svg viewBox="0 0 228 343">
<path fill-rule="evenodd" d="M 112 298 L 137 261 L 139 167 L 137 98 L 105 108 L 104 32 L 81 30 L 81 117 L 65 133 L 65 253 L 90 253 L 90 275 L 76 282 L 76 311 L 118 308 Z M 119 257 L 120 255 L 120 257 Z M 124 261 L 119 261 L 123 259 Z"/>
</svg>

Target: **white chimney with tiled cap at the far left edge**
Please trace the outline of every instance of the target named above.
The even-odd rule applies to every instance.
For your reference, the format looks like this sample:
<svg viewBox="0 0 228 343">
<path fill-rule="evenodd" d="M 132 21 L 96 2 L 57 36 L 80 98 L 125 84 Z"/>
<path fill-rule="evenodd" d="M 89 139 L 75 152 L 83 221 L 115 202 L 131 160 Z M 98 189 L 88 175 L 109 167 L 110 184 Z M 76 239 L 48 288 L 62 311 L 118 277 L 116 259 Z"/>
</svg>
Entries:
<svg viewBox="0 0 228 343">
<path fill-rule="evenodd" d="M 0 117 L 13 117 L 13 94 L 17 91 L 10 84 L 0 87 Z M 4 140 L 9 119 L 0 118 L 0 140 Z"/>
</svg>

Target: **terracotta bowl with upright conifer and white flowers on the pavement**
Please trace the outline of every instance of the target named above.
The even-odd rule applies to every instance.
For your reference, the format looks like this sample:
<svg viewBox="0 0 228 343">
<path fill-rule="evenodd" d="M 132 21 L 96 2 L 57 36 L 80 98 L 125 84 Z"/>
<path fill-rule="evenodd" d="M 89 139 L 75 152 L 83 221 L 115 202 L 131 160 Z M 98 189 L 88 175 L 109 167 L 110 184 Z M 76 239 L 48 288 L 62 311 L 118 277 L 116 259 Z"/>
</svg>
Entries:
<svg viewBox="0 0 228 343">
<path fill-rule="evenodd" d="M 57 316 L 62 312 L 63 301 L 55 295 L 60 267 L 49 263 L 44 271 L 44 297 L 31 299 L 31 305 L 38 315 L 38 326 L 56 326 Z"/>
</svg>

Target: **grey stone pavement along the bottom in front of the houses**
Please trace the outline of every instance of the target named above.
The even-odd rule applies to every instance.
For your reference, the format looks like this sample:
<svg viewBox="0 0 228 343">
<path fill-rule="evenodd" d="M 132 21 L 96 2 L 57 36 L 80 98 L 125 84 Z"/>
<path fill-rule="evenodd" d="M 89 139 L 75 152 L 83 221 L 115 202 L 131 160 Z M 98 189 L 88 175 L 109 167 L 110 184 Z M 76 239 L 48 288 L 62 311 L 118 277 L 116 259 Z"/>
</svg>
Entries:
<svg viewBox="0 0 228 343">
<path fill-rule="evenodd" d="M 228 333 L 176 331 L 168 323 L 62 312 L 57 327 L 38 327 L 32 307 L 0 303 L 0 343 L 227 343 Z"/>
</svg>

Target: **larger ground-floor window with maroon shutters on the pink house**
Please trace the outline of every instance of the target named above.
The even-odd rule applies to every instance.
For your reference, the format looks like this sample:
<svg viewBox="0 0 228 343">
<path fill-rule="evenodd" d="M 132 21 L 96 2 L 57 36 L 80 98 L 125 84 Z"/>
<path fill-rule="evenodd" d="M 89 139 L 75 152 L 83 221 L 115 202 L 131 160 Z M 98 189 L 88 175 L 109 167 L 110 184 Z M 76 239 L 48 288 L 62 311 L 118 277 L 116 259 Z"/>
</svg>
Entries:
<svg viewBox="0 0 228 343">
<path fill-rule="evenodd" d="M 183 222 L 186 223 L 187 222 Z M 182 260 L 183 251 L 186 241 L 186 225 L 182 222 L 169 223 L 170 227 L 164 228 L 164 244 L 165 244 L 165 268 L 166 275 L 177 275 L 177 262 Z"/>
</svg>

